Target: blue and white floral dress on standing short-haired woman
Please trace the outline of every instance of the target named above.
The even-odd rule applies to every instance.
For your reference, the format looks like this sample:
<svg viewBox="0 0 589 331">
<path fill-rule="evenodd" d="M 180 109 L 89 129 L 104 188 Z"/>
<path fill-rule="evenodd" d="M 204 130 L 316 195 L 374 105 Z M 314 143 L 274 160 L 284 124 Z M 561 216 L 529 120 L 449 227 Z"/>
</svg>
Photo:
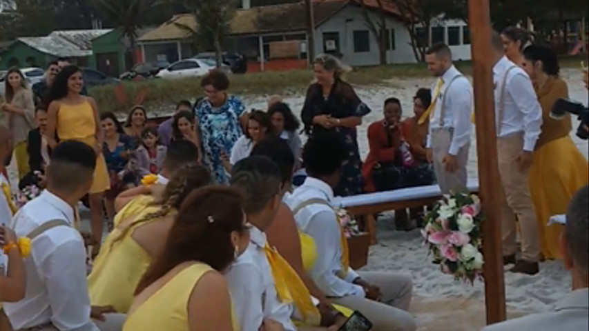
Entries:
<svg viewBox="0 0 589 331">
<path fill-rule="evenodd" d="M 231 155 L 233 145 L 242 136 L 240 117 L 245 108 L 237 97 L 230 96 L 225 104 L 214 108 L 204 99 L 196 106 L 196 118 L 202 141 L 202 161 L 219 184 L 229 183 L 221 161 L 221 153 Z"/>
</svg>

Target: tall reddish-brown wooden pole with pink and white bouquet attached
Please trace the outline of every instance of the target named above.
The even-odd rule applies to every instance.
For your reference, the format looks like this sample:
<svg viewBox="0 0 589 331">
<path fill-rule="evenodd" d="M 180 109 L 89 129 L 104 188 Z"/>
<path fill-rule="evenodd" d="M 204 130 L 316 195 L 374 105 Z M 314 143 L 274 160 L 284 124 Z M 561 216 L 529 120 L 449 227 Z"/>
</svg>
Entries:
<svg viewBox="0 0 589 331">
<path fill-rule="evenodd" d="M 485 305 L 487 324 L 505 321 L 505 280 L 501 250 L 501 179 L 497 161 L 495 133 L 494 86 L 491 49 L 489 0 L 469 0 L 469 22 L 472 34 L 472 67 L 474 76 L 474 113 L 476 149 L 479 155 L 479 183 L 485 223 Z"/>
</svg>

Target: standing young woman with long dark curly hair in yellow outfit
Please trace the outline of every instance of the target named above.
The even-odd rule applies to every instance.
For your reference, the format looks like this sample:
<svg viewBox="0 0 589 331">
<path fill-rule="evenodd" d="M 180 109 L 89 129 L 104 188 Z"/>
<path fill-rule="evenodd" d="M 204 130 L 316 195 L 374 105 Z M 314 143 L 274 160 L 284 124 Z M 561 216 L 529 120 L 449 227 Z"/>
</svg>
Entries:
<svg viewBox="0 0 589 331">
<path fill-rule="evenodd" d="M 59 141 L 76 140 L 88 144 L 96 151 L 94 182 L 88 192 L 90 202 L 90 227 L 97 254 L 102 242 L 104 221 L 102 198 L 110 188 L 108 170 L 102 155 L 102 129 L 96 101 L 80 94 L 84 88 L 81 70 L 76 66 L 63 68 L 49 91 L 47 114 L 47 141 L 55 148 Z"/>
</svg>

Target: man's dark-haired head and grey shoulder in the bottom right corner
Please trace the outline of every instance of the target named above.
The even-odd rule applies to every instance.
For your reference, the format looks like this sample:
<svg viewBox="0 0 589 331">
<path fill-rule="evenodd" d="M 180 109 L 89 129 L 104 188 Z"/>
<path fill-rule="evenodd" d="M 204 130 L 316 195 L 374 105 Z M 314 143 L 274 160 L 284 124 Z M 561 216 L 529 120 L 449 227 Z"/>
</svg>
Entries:
<svg viewBox="0 0 589 331">
<path fill-rule="evenodd" d="M 589 330 L 589 186 L 574 195 L 561 234 L 560 250 L 572 274 L 572 292 L 554 310 L 488 326 L 484 331 Z"/>
</svg>

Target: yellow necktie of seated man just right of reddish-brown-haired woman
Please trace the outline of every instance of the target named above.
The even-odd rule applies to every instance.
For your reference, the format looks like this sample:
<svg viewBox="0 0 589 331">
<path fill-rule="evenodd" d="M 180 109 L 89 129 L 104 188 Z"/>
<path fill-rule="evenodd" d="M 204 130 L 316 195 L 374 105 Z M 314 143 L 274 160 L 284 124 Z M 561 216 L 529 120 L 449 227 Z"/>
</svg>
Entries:
<svg viewBox="0 0 589 331">
<path fill-rule="evenodd" d="M 270 248 L 268 243 L 264 247 L 264 252 L 272 270 L 276 292 L 280 301 L 294 303 L 302 314 L 305 323 L 319 325 L 321 314 L 317 307 L 313 305 L 311 294 L 307 290 L 305 283 L 300 280 L 291 265 L 280 256 L 276 249 Z"/>
</svg>

